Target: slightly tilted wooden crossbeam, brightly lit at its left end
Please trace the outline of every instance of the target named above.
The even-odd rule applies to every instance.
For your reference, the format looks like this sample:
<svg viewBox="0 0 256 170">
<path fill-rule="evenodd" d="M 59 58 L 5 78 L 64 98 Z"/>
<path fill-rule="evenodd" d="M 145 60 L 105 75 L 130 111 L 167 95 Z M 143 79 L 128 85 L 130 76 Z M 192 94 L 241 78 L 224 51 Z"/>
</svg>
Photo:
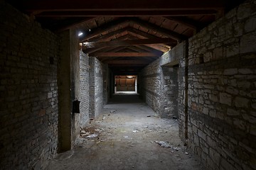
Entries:
<svg viewBox="0 0 256 170">
<path fill-rule="evenodd" d="M 84 47 L 113 47 L 113 46 L 129 46 L 129 45 L 149 45 L 149 44 L 162 44 L 172 42 L 171 38 L 152 38 L 152 39 L 138 39 L 138 40 L 112 40 L 109 42 L 85 42 Z"/>
</svg>

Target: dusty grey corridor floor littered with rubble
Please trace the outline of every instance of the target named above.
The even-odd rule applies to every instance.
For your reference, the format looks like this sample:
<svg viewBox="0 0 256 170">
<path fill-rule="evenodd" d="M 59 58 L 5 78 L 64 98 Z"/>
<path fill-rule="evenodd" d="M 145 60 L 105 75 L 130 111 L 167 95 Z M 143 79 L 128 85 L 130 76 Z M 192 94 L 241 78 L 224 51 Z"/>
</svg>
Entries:
<svg viewBox="0 0 256 170">
<path fill-rule="evenodd" d="M 157 118 L 137 95 L 114 96 L 81 135 L 48 169 L 204 169 L 179 140 L 177 120 Z"/>
</svg>

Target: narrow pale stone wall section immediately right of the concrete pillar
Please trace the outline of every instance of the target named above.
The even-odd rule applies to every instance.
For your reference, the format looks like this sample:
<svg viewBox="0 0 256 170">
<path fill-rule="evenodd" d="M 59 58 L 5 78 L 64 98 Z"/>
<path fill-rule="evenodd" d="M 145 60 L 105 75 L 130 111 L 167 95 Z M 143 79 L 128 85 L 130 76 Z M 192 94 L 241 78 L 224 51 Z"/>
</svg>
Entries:
<svg viewBox="0 0 256 170">
<path fill-rule="evenodd" d="M 80 127 L 89 120 L 89 57 L 80 51 Z"/>
</svg>

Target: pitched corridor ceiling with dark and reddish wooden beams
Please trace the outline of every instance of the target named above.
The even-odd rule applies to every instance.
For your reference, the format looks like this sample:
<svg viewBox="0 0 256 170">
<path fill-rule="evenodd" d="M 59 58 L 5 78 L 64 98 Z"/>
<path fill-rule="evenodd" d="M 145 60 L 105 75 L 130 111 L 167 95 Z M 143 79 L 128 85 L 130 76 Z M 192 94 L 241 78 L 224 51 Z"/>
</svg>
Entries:
<svg viewBox="0 0 256 170">
<path fill-rule="evenodd" d="M 118 74 L 136 74 L 242 0 L 6 0 L 43 28 L 76 28 L 82 50 Z"/>
</svg>

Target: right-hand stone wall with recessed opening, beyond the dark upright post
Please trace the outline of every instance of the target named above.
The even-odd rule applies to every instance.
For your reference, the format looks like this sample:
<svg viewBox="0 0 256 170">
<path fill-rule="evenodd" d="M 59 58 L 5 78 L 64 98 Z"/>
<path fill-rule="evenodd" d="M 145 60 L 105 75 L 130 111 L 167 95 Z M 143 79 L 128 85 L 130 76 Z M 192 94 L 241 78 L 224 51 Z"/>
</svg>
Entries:
<svg viewBox="0 0 256 170">
<path fill-rule="evenodd" d="M 161 118 L 178 118 L 178 64 L 184 45 L 180 43 L 139 74 L 139 94 Z"/>
</svg>

